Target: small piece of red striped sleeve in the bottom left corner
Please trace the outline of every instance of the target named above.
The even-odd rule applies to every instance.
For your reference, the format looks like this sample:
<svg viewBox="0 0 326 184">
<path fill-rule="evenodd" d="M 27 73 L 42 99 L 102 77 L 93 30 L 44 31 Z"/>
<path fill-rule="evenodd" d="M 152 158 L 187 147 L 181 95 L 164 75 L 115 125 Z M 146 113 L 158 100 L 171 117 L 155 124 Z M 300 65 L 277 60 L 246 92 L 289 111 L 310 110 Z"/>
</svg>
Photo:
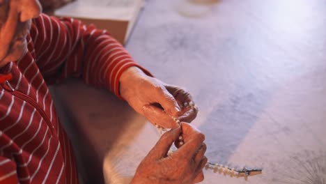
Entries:
<svg viewBox="0 0 326 184">
<path fill-rule="evenodd" d="M 0 156 L 0 184 L 19 183 L 17 178 L 16 163 Z"/>
</svg>

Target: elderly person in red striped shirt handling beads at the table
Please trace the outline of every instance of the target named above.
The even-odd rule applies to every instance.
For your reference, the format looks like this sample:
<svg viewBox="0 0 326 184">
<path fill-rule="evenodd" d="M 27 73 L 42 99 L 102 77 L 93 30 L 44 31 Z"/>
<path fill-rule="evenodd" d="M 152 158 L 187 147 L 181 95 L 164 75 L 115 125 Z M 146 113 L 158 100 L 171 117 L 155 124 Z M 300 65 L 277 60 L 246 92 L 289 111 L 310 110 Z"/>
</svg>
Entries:
<svg viewBox="0 0 326 184">
<path fill-rule="evenodd" d="M 47 88 L 66 77 L 107 88 L 151 123 L 171 128 L 132 183 L 202 181 L 204 136 L 176 123 L 196 117 L 194 106 L 179 106 L 191 96 L 152 77 L 107 31 L 40 12 L 37 0 L 0 0 L 0 183 L 78 183 L 72 146 Z M 167 155 L 181 133 L 185 144 Z"/>
</svg>

